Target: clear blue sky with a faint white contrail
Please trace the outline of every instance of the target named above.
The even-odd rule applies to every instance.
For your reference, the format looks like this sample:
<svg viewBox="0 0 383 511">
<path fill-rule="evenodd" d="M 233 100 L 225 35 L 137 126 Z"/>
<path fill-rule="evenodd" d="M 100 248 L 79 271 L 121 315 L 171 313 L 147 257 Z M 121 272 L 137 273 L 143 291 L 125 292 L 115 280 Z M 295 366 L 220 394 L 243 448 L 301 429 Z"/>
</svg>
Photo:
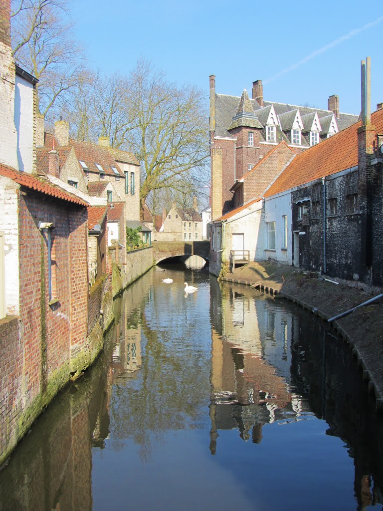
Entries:
<svg viewBox="0 0 383 511">
<path fill-rule="evenodd" d="M 238 7 L 237 7 L 238 6 Z M 361 110 L 361 60 L 371 57 L 371 109 L 383 102 L 383 12 L 377 1 L 241 2 L 76 0 L 76 38 L 88 65 L 128 74 L 143 57 L 169 80 L 251 95 L 264 83 L 268 101 Z"/>
</svg>

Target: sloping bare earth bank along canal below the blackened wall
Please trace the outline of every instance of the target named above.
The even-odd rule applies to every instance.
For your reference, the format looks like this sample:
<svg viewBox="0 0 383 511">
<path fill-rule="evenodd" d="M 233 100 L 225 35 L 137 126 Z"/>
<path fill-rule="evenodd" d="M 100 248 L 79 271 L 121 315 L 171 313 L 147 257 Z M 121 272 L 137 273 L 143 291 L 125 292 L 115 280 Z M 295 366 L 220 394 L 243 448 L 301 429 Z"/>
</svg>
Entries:
<svg viewBox="0 0 383 511">
<path fill-rule="evenodd" d="M 344 311 L 383 292 L 380 288 L 302 272 L 290 266 L 270 262 L 252 263 L 229 273 L 222 280 L 254 286 L 275 298 L 286 298 L 308 309 L 327 322 Z M 327 277 L 326 277 L 327 278 Z M 361 375 L 374 392 L 376 410 L 383 411 L 383 299 L 358 308 L 329 323 L 352 350 Z"/>
</svg>

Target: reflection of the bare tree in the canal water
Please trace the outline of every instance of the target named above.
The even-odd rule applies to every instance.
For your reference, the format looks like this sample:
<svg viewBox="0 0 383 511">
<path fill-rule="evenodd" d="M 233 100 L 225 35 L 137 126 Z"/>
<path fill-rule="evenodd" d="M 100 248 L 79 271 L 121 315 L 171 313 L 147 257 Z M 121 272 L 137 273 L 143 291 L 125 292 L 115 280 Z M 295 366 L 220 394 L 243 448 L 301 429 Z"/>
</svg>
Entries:
<svg viewBox="0 0 383 511">
<path fill-rule="evenodd" d="M 133 438 L 141 447 L 141 457 L 148 459 L 153 439 L 160 440 L 166 431 L 206 423 L 203 404 L 209 367 L 208 360 L 202 363 L 198 352 L 188 350 L 186 344 L 188 356 L 181 358 L 180 346 L 172 347 L 167 331 L 152 329 L 145 313 L 140 321 L 145 355 L 139 379 L 134 388 L 114 386 L 111 415 L 113 437 Z"/>
</svg>

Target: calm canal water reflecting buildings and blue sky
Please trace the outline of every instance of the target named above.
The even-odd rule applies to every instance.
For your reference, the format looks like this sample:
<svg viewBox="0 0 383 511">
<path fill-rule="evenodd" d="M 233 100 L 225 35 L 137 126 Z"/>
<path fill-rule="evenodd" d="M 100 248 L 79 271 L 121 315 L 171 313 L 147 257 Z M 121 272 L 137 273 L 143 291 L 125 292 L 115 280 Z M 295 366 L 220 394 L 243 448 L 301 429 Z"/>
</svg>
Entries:
<svg viewBox="0 0 383 511">
<path fill-rule="evenodd" d="M 382 508 L 381 417 L 325 323 L 175 265 L 114 309 L 98 361 L 0 472 L 0 509 Z"/>
</svg>

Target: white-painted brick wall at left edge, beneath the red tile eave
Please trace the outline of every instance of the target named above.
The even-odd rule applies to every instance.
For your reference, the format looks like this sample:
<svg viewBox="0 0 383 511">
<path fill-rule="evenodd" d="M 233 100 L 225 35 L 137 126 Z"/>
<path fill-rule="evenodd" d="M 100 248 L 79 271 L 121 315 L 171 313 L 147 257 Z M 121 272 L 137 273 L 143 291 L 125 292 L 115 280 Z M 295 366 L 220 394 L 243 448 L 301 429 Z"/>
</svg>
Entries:
<svg viewBox="0 0 383 511">
<path fill-rule="evenodd" d="M 0 176 L 0 231 L 4 233 L 5 311 L 19 314 L 18 186 Z"/>
</svg>

